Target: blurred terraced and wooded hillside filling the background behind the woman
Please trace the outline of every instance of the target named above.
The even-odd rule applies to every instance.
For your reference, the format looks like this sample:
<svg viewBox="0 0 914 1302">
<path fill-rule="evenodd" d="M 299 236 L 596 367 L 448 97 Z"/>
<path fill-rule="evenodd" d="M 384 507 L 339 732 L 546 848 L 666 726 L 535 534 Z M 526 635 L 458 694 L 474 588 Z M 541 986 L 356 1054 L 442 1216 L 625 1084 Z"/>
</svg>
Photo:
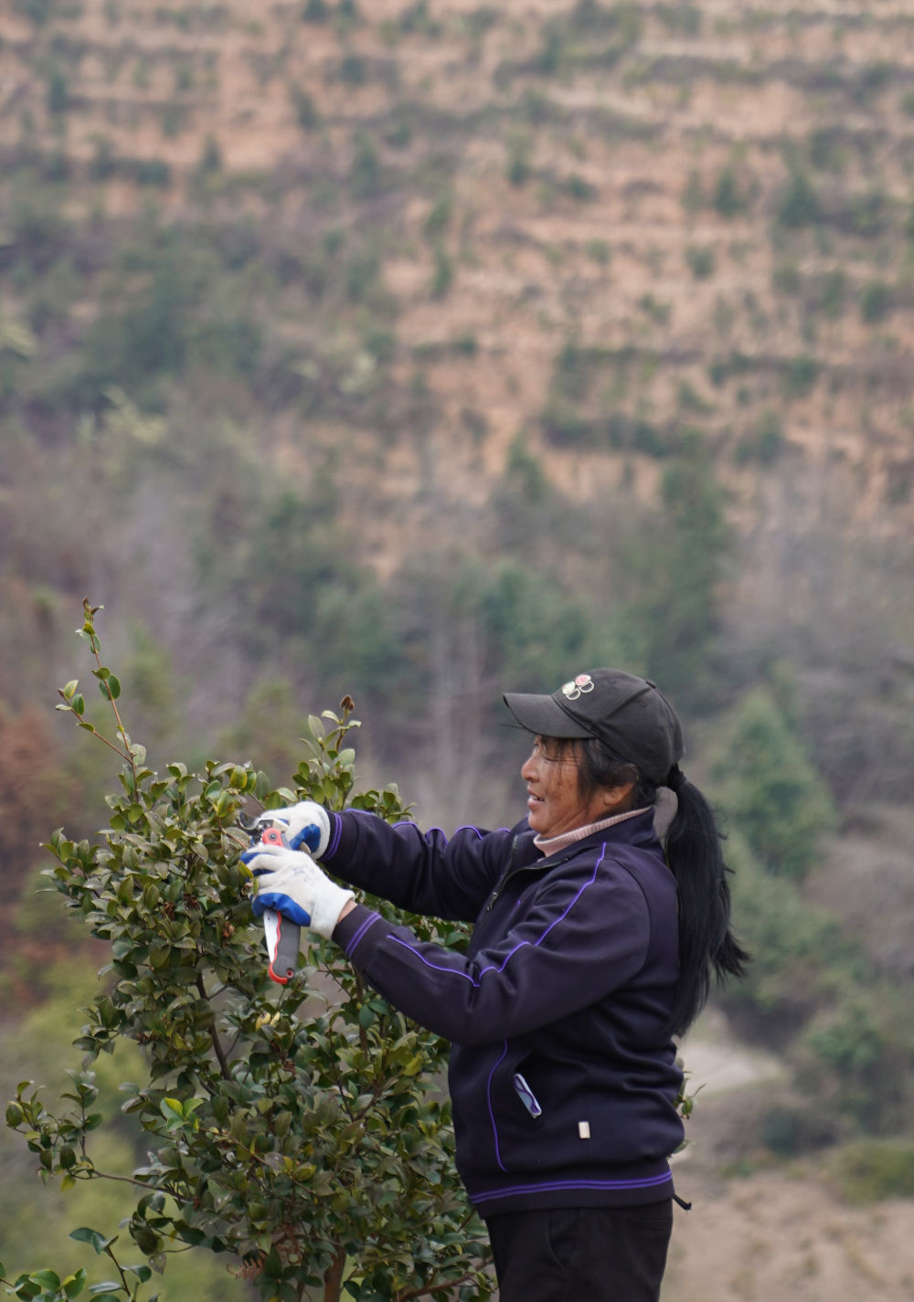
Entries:
<svg viewBox="0 0 914 1302">
<path fill-rule="evenodd" d="M 154 764 L 288 783 L 349 691 L 444 825 L 513 818 L 503 690 L 616 661 L 786 1062 L 730 1159 L 906 1193 L 913 69 L 906 4 L 4 9 L 4 1062 L 103 961 L 33 893 L 104 820 L 51 713 L 86 594 Z M 59 1204 L 1 1197 L 9 1263 Z"/>
</svg>

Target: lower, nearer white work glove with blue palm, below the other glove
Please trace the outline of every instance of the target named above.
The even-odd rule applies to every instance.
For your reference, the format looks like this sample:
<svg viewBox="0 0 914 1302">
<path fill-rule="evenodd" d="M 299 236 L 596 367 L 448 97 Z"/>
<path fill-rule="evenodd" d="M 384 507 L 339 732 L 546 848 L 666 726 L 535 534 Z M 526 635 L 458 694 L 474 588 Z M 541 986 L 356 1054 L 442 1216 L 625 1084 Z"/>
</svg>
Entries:
<svg viewBox="0 0 914 1302">
<path fill-rule="evenodd" d="M 311 855 L 302 850 L 260 842 L 241 858 L 256 880 L 251 909 L 258 917 L 266 909 L 275 909 L 289 922 L 329 937 L 342 906 L 354 898 L 352 891 L 331 881 Z"/>
</svg>

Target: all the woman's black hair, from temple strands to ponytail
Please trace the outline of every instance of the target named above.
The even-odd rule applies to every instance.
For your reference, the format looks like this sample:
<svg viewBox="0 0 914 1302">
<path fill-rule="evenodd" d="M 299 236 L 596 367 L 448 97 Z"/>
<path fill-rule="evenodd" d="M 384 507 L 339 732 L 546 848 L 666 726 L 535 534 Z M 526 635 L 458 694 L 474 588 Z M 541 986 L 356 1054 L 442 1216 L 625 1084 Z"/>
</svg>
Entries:
<svg viewBox="0 0 914 1302">
<path fill-rule="evenodd" d="M 656 803 L 658 784 L 613 755 L 596 737 L 560 743 L 578 758 L 582 796 L 600 786 L 633 784 L 631 809 Z M 663 783 L 676 794 L 677 810 L 667 828 L 667 863 L 676 878 L 680 915 L 680 980 L 669 1019 L 671 1035 L 682 1036 L 707 1003 L 711 976 L 721 984 L 742 976 L 749 953 L 730 931 L 730 888 L 713 811 L 678 764 Z"/>
</svg>

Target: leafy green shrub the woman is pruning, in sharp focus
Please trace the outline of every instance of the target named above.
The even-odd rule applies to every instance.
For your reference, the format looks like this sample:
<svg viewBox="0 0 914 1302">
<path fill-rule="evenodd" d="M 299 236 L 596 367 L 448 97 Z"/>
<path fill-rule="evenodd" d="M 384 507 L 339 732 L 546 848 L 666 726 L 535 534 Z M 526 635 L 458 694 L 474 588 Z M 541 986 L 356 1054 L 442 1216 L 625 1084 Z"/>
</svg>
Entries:
<svg viewBox="0 0 914 1302">
<path fill-rule="evenodd" d="M 8 1128 L 46 1180 L 64 1189 L 134 1186 L 121 1225 L 145 1264 L 122 1267 L 111 1250 L 118 1236 L 81 1228 L 74 1236 L 107 1254 L 120 1277 L 90 1292 L 135 1302 L 180 1243 L 229 1254 L 263 1297 L 289 1302 L 322 1285 L 325 1302 L 340 1302 L 344 1290 L 421 1297 L 461 1284 L 488 1297 L 484 1230 L 453 1169 L 449 1103 L 432 1088 L 445 1043 L 372 997 L 319 937 L 305 937 L 303 962 L 277 991 L 250 914 L 238 858 L 250 844 L 243 814 L 305 798 L 388 822 L 406 816 L 396 788 L 354 789 L 352 702 L 341 702 L 339 716 L 309 719 L 294 790 L 270 790 L 264 775 L 232 762 L 208 760 L 201 773 L 176 762 L 159 775 L 124 727 L 96 613 L 86 602 L 81 631 L 113 715 L 111 736 L 87 719 L 77 681 L 61 689 L 59 708 L 116 753 L 121 781 L 91 844 L 52 835 L 56 865 L 47 875 L 86 930 L 111 945 L 109 975 L 79 1013 L 85 1057 L 65 1099 L 47 1107 L 26 1081 L 7 1107 Z M 450 924 L 410 921 L 426 940 L 462 939 Z M 121 1113 L 146 1150 L 133 1176 L 100 1164 L 94 1134 L 105 1117 L 91 1064 L 121 1042 L 145 1047 L 138 1081 L 120 1087 Z M 61 1295 L 59 1276 L 43 1276 L 55 1302 L 79 1292 Z"/>
</svg>

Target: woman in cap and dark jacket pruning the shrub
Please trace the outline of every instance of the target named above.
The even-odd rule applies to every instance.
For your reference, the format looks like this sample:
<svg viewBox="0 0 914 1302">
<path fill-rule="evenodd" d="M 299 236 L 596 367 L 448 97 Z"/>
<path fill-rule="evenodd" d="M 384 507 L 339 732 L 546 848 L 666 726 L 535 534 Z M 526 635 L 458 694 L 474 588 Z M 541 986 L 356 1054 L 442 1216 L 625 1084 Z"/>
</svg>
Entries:
<svg viewBox="0 0 914 1302">
<path fill-rule="evenodd" d="M 711 975 L 740 975 L 747 957 L 729 930 L 720 840 L 652 682 L 592 669 L 552 695 L 504 699 L 534 738 L 523 822 L 448 840 L 302 802 L 276 811 L 292 849 L 245 857 L 254 911 L 332 936 L 375 990 L 452 1042 L 457 1165 L 501 1302 L 656 1302 L 668 1157 L 682 1141 L 673 1036 Z M 665 854 L 660 786 L 677 797 Z M 466 953 L 357 904 L 316 858 L 404 909 L 473 921 Z"/>
</svg>

